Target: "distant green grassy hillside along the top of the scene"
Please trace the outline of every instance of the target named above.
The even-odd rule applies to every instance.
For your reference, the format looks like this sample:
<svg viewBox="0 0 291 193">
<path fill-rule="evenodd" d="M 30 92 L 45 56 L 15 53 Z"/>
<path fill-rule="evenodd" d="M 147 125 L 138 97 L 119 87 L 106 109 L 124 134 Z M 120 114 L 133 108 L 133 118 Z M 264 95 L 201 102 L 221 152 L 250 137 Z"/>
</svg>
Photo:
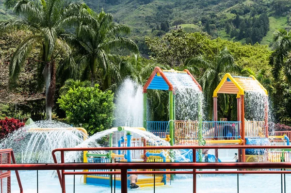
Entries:
<svg viewBox="0 0 291 193">
<path fill-rule="evenodd" d="M 187 32 L 205 31 L 212 37 L 247 42 L 227 32 L 227 25 L 235 28 L 234 20 L 259 18 L 261 14 L 269 17 L 269 31 L 259 39 L 260 44 L 270 45 L 272 34 L 279 28 L 291 29 L 290 0 L 86 0 L 96 12 L 104 9 L 112 13 L 115 21 L 128 25 L 131 36 L 142 40 L 145 35 L 159 33 L 162 23 L 168 28 L 176 26 Z M 0 20 L 13 17 L 12 11 L 3 6 L 0 0 Z M 167 29 L 168 30 L 168 29 Z M 167 31 L 163 30 L 163 31 Z M 239 28 L 236 28 L 239 32 Z M 156 31 L 155 33 L 152 33 Z M 255 43 L 255 42 L 254 42 Z"/>
</svg>

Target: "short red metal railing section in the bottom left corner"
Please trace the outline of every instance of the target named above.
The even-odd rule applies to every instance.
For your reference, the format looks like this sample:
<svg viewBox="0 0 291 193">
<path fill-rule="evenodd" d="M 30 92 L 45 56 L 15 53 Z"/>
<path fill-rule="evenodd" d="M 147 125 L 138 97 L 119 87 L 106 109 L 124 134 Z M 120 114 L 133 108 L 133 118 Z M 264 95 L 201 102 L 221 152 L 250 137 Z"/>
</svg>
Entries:
<svg viewBox="0 0 291 193">
<path fill-rule="evenodd" d="M 16 164 L 14 153 L 12 149 L 0 149 L 0 165 L 11 164 L 11 161 Z M 18 171 L 15 171 L 18 181 L 20 193 L 23 193 L 20 177 Z M 0 192 L 11 193 L 11 172 L 8 169 L 0 170 Z"/>
</svg>

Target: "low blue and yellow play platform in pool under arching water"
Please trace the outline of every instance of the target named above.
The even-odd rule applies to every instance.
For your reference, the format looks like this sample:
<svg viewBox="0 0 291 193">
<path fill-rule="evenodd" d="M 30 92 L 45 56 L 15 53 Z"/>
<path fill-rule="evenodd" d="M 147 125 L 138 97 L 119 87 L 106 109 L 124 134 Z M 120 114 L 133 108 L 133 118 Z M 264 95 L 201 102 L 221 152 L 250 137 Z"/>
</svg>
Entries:
<svg viewBox="0 0 291 193">
<path fill-rule="evenodd" d="M 146 131 L 145 128 L 129 128 L 129 127 L 118 127 L 112 128 L 112 132 L 109 134 L 109 147 L 150 147 L 156 146 L 146 138 L 139 134 L 132 133 L 132 130 Z M 168 137 L 168 136 L 167 136 Z M 169 138 L 164 138 L 162 140 L 169 141 Z M 158 142 L 159 143 L 159 142 Z M 162 145 L 162 144 L 158 144 Z M 109 151 L 106 154 L 95 154 L 87 153 L 86 161 L 90 163 L 111 163 L 111 162 L 167 162 L 169 161 L 167 152 L 161 150 L 127 150 L 127 151 Z M 85 161 L 85 160 L 84 160 Z M 104 172 L 104 170 L 89 170 L 89 172 Z M 109 170 L 107 170 L 109 171 Z M 84 182 L 88 184 L 98 184 L 98 185 L 113 185 L 121 186 L 120 175 L 115 176 L 113 181 L 110 175 L 85 175 Z M 152 187 L 166 185 L 167 177 L 165 174 L 156 176 L 146 176 L 140 175 L 139 180 L 136 183 L 140 187 Z M 128 183 L 129 186 L 130 183 Z"/>
</svg>

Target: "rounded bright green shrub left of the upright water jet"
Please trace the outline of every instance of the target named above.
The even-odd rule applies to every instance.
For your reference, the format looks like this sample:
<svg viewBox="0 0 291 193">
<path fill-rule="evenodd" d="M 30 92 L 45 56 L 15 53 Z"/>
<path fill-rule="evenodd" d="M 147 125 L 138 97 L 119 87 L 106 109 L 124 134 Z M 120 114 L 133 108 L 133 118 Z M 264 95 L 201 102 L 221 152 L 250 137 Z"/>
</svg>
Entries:
<svg viewBox="0 0 291 193">
<path fill-rule="evenodd" d="M 95 87 L 78 87 L 58 99 L 69 123 L 83 127 L 89 134 L 109 129 L 113 122 L 113 93 Z"/>
</svg>

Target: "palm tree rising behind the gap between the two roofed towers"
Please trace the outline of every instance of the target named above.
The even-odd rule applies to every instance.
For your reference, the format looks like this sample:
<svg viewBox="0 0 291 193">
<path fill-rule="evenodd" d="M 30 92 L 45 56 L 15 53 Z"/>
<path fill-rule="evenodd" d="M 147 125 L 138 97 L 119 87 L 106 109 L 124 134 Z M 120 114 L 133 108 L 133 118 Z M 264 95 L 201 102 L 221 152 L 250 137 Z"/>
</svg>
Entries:
<svg viewBox="0 0 291 193">
<path fill-rule="evenodd" d="M 205 93 L 206 101 L 209 104 L 207 108 L 208 113 L 211 115 L 213 91 L 226 73 L 240 72 L 241 69 L 237 64 L 235 64 L 234 58 L 227 48 L 223 48 L 221 51 L 217 50 L 216 54 L 207 56 L 200 55 L 191 58 L 188 60 L 187 64 L 194 72 L 197 72 L 198 70 L 202 72 L 199 83 Z M 228 97 L 225 96 L 224 98 L 227 100 Z M 226 102 L 226 104 L 228 104 L 228 102 Z M 221 110 L 221 113 L 223 113 L 223 111 L 224 110 Z"/>
</svg>

